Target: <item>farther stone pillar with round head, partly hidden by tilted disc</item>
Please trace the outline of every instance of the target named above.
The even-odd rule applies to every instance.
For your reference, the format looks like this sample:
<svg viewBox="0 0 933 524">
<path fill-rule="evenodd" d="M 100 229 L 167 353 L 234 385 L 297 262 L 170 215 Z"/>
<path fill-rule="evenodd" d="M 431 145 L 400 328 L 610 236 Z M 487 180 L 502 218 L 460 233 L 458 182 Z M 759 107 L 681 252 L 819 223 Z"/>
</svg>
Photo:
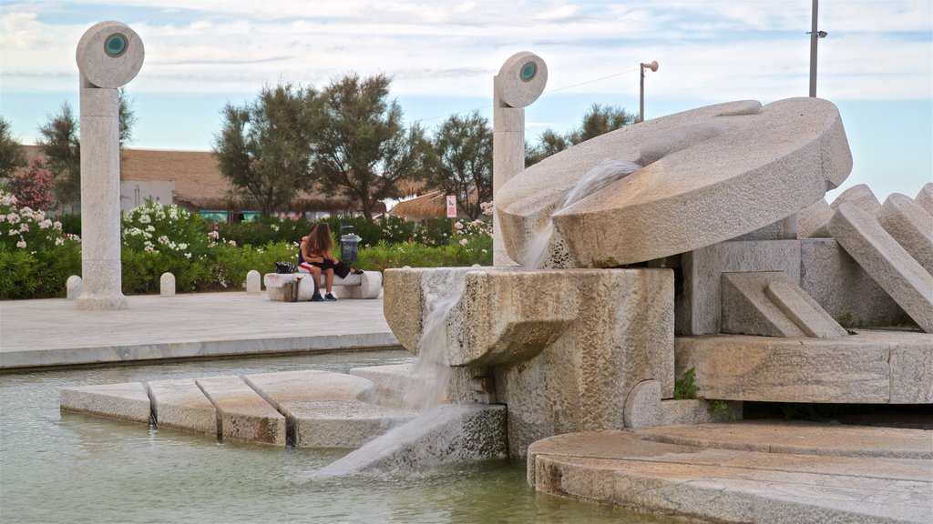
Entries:
<svg viewBox="0 0 933 524">
<path fill-rule="evenodd" d="M 524 108 L 537 100 L 548 83 L 548 66 L 535 53 L 508 57 L 493 78 L 493 200 L 499 187 L 524 169 Z M 493 265 L 514 266 L 506 254 L 493 214 Z"/>
</svg>

